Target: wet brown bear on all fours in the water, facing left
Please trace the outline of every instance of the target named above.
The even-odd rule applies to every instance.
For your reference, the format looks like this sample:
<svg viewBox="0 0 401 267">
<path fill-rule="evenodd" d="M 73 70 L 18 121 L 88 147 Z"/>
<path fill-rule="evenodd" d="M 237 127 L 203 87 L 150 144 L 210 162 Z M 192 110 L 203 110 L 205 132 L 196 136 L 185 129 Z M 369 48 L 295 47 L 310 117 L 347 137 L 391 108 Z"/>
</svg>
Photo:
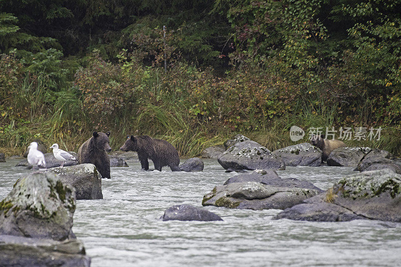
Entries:
<svg viewBox="0 0 401 267">
<path fill-rule="evenodd" d="M 171 171 L 181 171 L 178 167 L 178 151 L 167 141 L 153 139 L 147 135 L 127 135 L 127 140 L 120 149 L 138 152 L 139 161 L 144 170 L 149 170 L 148 158 L 150 158 L 155 170 L 161 171 L 161 167 L 168 166 Z"/>
</svg>

